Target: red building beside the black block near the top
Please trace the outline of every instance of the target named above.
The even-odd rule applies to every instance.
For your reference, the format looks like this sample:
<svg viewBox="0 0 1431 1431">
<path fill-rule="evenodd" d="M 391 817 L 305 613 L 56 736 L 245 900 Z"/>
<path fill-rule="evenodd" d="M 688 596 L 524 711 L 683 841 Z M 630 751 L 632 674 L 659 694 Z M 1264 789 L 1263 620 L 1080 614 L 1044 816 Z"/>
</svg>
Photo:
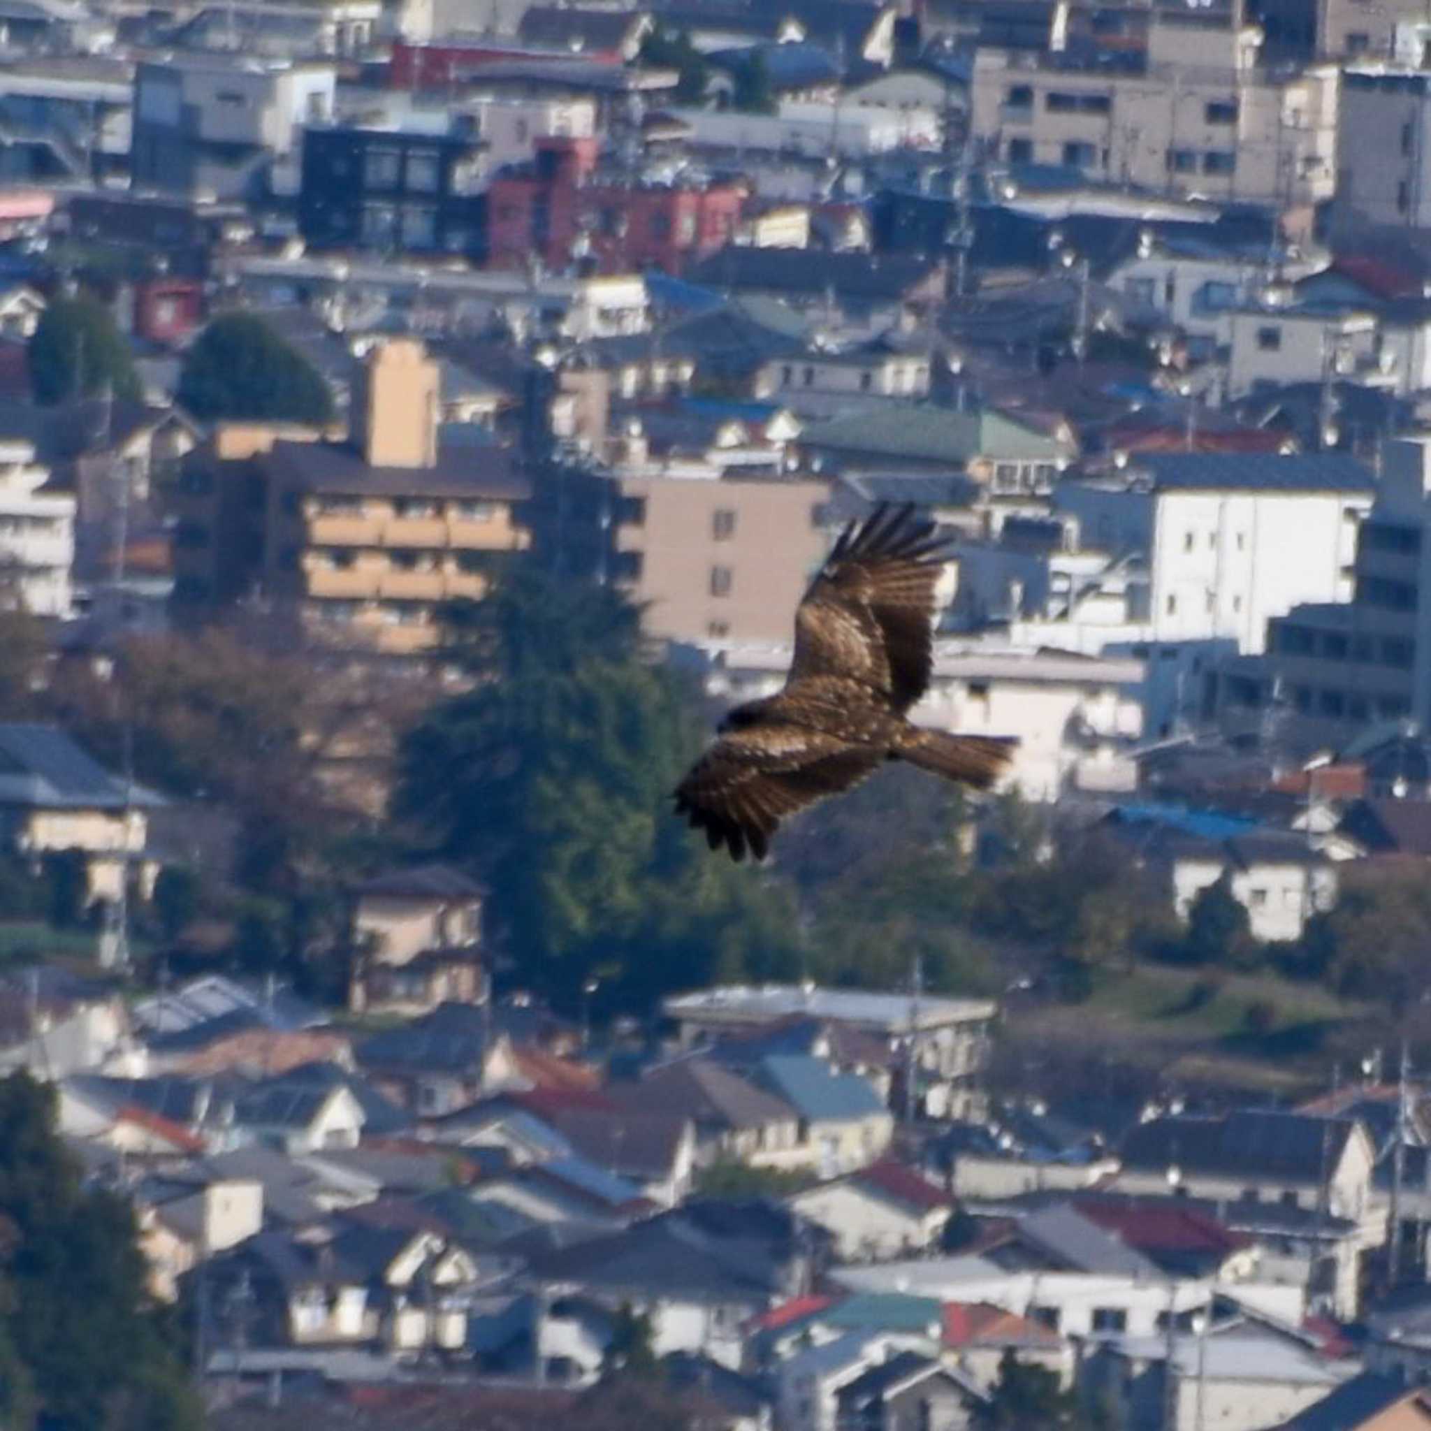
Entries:
<svg viewBox="0 0 1431 1431">
<path fill-rule="evenodd" d="M 743 185 L 653 183 L 604 167 L 600 153 L 597 139 L 541 139 L 531 165 L 492 180 L 487 248 L 494 268 L 518 268 L 535 253 L 562 269 L 584 252 L 601 273 L 678 273 L 730 242 Z"/>
</svg>

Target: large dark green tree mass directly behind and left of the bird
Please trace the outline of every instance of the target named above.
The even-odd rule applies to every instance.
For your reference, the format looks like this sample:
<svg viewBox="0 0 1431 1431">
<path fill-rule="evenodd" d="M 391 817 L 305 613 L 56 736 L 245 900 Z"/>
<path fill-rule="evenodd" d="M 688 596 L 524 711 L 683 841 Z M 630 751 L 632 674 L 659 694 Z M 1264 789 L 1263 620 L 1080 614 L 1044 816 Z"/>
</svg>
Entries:
<svg viewBox="0 0 1431 1431">
<path fill-rule="evenodd" d="M 701 737 L 687 687 L 641 658 L 638 614 L 524 568 L 454 617 L 477 683 L 405 740 L 399 809 L 485 876 L 522 977 L 571 1002 L 595 973 L 640 1006 L 788 972 L 788 900 L 671 813 Z"/>
</svg>

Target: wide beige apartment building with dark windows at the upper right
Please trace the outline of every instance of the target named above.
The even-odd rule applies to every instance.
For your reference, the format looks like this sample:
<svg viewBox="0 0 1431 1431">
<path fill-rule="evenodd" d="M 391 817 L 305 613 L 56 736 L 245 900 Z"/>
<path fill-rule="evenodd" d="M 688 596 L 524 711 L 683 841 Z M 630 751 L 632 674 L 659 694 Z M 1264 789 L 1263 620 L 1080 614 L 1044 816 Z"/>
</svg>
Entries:
<svg viewBox="0 0 1431 1431">
<path fill-rule="evenodd" d="M 970 130 L 1009 163 L 1211 199 L 1309 209 L 1335 187 L 1335 66 L 1258 67 L 1225 11 L 1159 11 L 1143 52 L 980 49 Z"/>
</svg>

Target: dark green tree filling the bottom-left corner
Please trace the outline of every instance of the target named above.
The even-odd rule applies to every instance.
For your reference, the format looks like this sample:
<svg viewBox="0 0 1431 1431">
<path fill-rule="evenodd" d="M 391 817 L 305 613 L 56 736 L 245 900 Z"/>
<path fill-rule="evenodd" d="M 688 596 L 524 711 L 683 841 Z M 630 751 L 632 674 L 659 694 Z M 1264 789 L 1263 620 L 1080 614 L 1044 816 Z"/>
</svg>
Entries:
<svg viewBox="0 0 1431 1431">
<path fill-rule="evenodd" d="M 190 1431 L 199 1407 L 147 1291 L 127 1203 L 84 1191 L 54 1095 L 0 1082 L 0 1407 L 49 1431 Z"/>
</svg>

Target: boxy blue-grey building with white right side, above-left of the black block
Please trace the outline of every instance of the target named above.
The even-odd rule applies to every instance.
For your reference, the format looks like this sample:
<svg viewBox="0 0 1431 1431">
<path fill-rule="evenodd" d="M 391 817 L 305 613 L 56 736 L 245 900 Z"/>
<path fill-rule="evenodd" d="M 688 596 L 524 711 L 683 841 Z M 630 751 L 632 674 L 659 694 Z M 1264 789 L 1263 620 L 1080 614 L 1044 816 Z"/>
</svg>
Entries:
<svg viewBox="0 0 1431 1431">
<path fill-rule="evenodd" d="M 332 120 L 333 90 L 331 64 L 218 54 L 142 63 L 135 72 L 133 185 L 246 199 L 292 169 L 279 186 L 296 186 L 302 126 Z"/>
</svg>

